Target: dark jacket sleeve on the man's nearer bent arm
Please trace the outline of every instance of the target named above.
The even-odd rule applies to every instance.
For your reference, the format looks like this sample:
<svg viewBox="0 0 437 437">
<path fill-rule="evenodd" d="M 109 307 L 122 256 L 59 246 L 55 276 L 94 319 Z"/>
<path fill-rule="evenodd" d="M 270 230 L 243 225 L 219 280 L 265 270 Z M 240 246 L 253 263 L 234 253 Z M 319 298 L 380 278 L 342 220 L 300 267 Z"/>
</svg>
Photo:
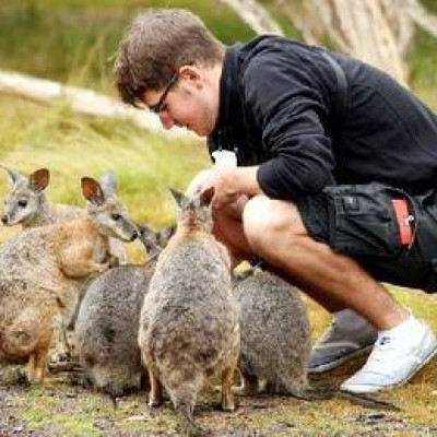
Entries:
<svg viewBox="0 0 437 437">
<path fill-rule="evenodd" d="M 274 199 L 297 200 L 332 181 L 334 157 L 322 123 L 328 90 L 320 67 L 310 70 L 293 57 L 281 59 L 285 55 L 291 56 L 251 59 L 243 75 L 245 110 L 261 127 L 270 156 L 257 174 L 261 189 Z"/>
</svg>

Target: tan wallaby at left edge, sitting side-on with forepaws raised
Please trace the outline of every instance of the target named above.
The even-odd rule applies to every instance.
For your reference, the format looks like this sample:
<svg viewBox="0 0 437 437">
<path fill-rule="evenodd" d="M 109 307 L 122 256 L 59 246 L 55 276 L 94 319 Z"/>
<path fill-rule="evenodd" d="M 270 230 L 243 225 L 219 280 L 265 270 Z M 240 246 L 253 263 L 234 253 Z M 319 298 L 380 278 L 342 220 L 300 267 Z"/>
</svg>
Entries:
<svg viewBox="0 0 437 437">
<path fill-rule="evenodd" d="M 0 249 L 0 361 L 29 359 L 28 379 L 40 381 L 54 330 L 69 316 L 80 282 L 113 262 L 109 236 L 138 236 L 123 204 L 82 178 L 86 210 L 70 222 L 24 231 Z"/>
</svg>

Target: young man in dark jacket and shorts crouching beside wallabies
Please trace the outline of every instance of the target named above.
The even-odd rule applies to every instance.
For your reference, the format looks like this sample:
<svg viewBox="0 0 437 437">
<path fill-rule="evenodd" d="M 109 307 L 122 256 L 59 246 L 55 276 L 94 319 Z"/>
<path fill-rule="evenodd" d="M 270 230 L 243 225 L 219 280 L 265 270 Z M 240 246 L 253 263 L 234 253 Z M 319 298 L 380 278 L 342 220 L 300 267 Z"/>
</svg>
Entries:
<svg viewBox="0 0 437 437">
<path fill-rule="evenodd" d="M 121 98 L 167 129 L 235 151 L 215 187 L 215 233 L 237 264 L 260 257 L 333 314 L 323 371 L 371 350 L 342 389 L 409 380 L 435 355 L 427 324 L 377 281 L 437 291 L 437 118 L 385 73 L 276 36 L 225 48 L 193 14 L 137 17 L 120 45 Z M 284 332 L 284 335 L 286 333 Z"/>
</svg>

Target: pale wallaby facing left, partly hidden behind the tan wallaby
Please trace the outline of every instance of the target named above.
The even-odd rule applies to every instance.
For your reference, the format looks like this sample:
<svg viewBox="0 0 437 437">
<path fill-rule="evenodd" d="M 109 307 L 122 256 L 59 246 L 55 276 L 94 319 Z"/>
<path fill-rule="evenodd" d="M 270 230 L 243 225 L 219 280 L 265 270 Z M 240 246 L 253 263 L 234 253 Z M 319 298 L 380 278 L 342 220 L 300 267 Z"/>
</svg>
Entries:
<svg viewBox="0 0 437 437">
<path fill-rule="evenodd" d="M 80 206 L 51 203 L 46 197 L 46 189 L 50 181 L 50 172 L 39 168 L 28 177 L 1 166 L 9 175 L 12 185 L 11 191 L 4 199 L 4 211 L 1 217 L 3 225 L 22 225 L 23 229 L 46 226 L 54 223 L 68 222 L 79 216 L 83 209 Z M 114 193 L 117 182 L 113 172 L 105 173 L 99 179 L 102 188 Z M 125 246 L 118 239 L 111 239 L 110 250 L 118 258 L 120 264 L 128 262 Z"/>
</svg>

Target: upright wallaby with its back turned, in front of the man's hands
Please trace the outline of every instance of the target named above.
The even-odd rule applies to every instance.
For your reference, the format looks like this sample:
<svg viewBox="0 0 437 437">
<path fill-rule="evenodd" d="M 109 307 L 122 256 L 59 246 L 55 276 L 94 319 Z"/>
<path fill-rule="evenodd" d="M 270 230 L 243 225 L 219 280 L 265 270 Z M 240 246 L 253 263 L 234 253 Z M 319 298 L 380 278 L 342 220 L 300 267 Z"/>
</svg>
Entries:
<svg viewBox="0 0 437 437">
<path fill-rule="evenodd" d="M 229 258 L 212 235 L 213 189 L 178 204 L 176 234 L 160 255 L 140 316 L 139 344 L 151 380 L 150 405 L 168 393 L 182 432 L 201 436 L 192 414 L 206 377 L 222 377 L 222 408 L 235 409 L 232 385 L 239 355 L 238 308 Z"/>
</svg>

